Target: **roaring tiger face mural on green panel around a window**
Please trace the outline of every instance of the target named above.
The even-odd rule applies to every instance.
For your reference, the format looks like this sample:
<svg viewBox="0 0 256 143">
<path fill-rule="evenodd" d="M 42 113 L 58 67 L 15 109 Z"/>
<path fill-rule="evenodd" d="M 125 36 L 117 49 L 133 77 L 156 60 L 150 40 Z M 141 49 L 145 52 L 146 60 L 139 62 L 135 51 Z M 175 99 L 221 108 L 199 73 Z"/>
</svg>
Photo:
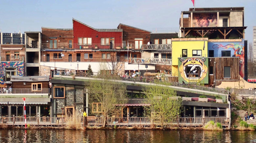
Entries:
<svg viewBox="0 0 256 143">
<path fill-rule="evenodd" d="M 179 82 L 208 84 L 208 58 L 179 58 Z"/>
</svg>

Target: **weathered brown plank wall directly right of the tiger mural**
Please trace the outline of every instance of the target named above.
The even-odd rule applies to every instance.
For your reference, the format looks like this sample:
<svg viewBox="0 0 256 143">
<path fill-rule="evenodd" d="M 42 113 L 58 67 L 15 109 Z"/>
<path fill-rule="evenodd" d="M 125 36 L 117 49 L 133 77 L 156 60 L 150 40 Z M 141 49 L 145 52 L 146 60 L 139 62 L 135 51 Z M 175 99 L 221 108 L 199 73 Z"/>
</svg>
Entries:
<svg viewBox="0 0 256 143">
<path fill-rule="evenodd" d="M 215 78 L 216 80 L 239 80 L 239 58 L 238 57 L 213 57 L 209 58 L 208 70 L 210 66 L 213 66 L 214 70 L 215 65 Z M 224 67 L 230 66 L 230 78 L 224 78 Z M 214 74 L 214 71 L 213 71 Z M 214 85 L 214 75 L 209 75 L 209 85 Z M 216 81 L 216 86 L 220 85 L 221 81 Z"/>
</svg>

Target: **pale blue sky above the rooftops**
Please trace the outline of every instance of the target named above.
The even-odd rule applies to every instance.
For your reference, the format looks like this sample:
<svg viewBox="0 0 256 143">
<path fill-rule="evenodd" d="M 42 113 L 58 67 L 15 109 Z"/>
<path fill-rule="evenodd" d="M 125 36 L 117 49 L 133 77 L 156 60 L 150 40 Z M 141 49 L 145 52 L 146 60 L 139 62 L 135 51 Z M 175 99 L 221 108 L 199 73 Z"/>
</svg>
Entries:
<svg viewBox="0 0 256 143">
<path fill-rule="evenodd" d="M 245 7 L 245 39 L 252 41 L 256 0 L 195 0 L 196 8 Z M 191 0 L 1 0 L 2 32 L 41 31 L 41 27 L 72 28 L 75 18 L 94 28 L 119 23 L 153 31 L 177 29 L 181 11 Z"/>
</svg>

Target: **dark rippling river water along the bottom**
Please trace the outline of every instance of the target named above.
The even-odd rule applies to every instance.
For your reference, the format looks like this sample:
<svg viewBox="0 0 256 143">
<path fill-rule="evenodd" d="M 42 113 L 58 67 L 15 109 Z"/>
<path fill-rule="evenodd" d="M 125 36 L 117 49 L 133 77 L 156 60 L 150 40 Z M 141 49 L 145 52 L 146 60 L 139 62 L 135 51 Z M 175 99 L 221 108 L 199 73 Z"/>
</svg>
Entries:
<svg viewBox="0 0 256 143">
<path fill-rule="evenodd" d="M 247 143 L 256 142 L 254 131 L 202 130 L 0 130 L 0 143 L 88 142 L 88 143 Z"/>
</svg>

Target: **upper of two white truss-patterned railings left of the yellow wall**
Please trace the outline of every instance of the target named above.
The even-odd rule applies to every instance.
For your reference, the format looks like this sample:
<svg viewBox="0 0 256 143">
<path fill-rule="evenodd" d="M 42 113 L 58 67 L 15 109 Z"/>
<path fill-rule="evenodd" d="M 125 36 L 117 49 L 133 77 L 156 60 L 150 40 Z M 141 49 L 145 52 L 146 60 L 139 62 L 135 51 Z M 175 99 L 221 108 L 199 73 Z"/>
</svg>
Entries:
<svg viewBox="0 0 256 143">
<path fill-rule="evenodd" d="M 172 50 L 172 44 L 143 44 L 140 50 Z"/>
</svg>

